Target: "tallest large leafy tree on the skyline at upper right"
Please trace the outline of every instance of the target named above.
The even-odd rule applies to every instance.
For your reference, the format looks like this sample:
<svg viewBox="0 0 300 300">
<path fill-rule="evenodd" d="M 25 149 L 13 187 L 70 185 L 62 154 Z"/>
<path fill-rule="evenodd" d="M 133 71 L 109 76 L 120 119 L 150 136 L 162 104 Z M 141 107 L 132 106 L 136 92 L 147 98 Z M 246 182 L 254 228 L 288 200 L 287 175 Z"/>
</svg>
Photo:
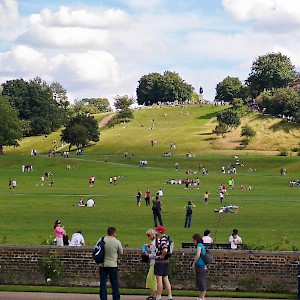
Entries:
<svg viewBox="0 0 300 300">
<path fill-rule="evenodd" d="M 264 90 L 287 87 L 296 77 L 295 66 L 290 58 L 278 52 L 259 56 L 252 63 L 246 82 L 252 95 L 257 96 Z"/>
</svg>

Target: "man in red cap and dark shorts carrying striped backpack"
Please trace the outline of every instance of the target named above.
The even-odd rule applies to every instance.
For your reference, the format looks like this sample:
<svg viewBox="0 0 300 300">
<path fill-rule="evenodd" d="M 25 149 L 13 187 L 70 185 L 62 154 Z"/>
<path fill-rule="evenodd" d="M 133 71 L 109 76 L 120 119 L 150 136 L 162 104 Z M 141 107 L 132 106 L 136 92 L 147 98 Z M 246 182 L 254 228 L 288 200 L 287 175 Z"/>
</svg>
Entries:
<svg viewBox="0 0 300 300">
<path fill-rule="evenodd" d="M 163 290 L 163 283 L 168 293 L 168 300 L 172 300 L 172 288 L 169 281 L 169 259 L 168 250 L 170 248 L 170 239 L 166 236 L 166 228 L 164 226 L 158 226 L 156 231 L 156 249 L 157 256 L 155 258 L 154 274 L 157 280 L 157 293 L 156 300 L 161 300 L 161 294 Z"/>
</svg>

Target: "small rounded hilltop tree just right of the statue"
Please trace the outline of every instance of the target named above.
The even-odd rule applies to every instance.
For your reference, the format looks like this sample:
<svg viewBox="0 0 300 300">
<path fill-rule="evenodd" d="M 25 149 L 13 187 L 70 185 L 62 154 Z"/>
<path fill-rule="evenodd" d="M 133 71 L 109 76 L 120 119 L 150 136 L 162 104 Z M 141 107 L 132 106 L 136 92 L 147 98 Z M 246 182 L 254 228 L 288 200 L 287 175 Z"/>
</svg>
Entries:
<svg viewBox="0 0 300 300">
<path fill-rule="evenodd" d="M 238 77 L 227 76 L 216 86 L 216 99 L 232 103 L 234 98 L 245 97 L 245 89 Z"/>
</svg>

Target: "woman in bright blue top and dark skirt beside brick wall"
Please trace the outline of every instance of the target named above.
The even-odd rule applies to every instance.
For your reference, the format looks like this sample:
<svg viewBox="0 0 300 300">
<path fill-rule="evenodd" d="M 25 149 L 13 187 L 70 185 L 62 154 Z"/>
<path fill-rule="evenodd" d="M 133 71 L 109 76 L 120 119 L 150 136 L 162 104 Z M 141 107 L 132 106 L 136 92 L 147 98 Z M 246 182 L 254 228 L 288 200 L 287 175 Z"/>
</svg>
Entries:
<svg viewBox="0 0 300 300">
<path fill-rule="evenodd" d="M 201 258 L 201 253 L 205 254 L 206 249 L 203 246 L 203 241 L 200 234 L 194 234 L 192 239 L 194 245 L 196 246 L 192 268 L 196 270 L 196 287 L 199 291 L 199 297 L 197 300 L 205 300 L 207 266 Z"/>
</svg>

